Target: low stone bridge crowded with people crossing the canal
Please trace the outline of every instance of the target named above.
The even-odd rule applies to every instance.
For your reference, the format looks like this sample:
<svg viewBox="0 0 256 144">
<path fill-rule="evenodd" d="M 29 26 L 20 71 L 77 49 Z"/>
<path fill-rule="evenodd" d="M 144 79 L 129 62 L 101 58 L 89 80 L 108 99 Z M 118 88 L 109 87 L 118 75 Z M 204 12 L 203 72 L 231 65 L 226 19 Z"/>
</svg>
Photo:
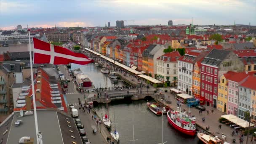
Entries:
<svg viewBox="0 0 256 144">
<path fill-rule="evenodd" d="M 98 93 L 91 93 L 89 96 L 86 96 L 87 101 L 93 101 L 93 104 L 97 103 L 109 103 L 112 100 L 115 99 L 129 99 L 129 100 L 139 100 L 139 99 L 158 99 L 162 96 L 163 94 L 160 93 L 155 93 L 154 91 L 109 91 L 107 92 L 107 98 L 105 96 L 105 91 L 101 92 L 101 96 L 98 95 Z"/>
</svg>

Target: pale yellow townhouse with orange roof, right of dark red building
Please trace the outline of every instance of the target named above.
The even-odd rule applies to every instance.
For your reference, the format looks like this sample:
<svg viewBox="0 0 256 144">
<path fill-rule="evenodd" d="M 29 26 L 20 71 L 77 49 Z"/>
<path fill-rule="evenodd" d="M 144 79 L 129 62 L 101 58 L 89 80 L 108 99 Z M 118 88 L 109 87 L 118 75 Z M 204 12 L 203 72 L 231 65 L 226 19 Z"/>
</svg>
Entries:
<svg viewBox="0 0 256 144">
<path fill-rule="evenodd" d="M 218 102 L 217 102 L 217 109 L 221 112 L 227 112 L 227 98 L 228 98 L 228 79 L 229 77 L 232 77 L 232 75 L 234 75 L 235 72 L 227 72 L 226 74 L 222 74 L 220 76 L 220 80 L 218 83 L 217 79 L 214 83 L 218 83 L 218 90 L 216 87 L 214 87 L 215 89 L 213 90 L 214 92 L 218 91 Z M 230 109 L 230 106 L 229 106 Z"/>
</svg>

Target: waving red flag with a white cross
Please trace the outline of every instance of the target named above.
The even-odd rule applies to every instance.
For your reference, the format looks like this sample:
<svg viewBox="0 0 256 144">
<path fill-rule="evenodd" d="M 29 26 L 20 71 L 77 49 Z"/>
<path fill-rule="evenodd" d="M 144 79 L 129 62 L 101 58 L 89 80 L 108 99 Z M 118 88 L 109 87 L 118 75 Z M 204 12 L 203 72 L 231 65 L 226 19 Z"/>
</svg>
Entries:
<svg viewBox="0 0 256 144">
<path fill-rule="evenodd" d="M 74 53 L 67 48 L 51 45 L 33 37 L 34 64 L 89 64 L 92 62 L 83 53 Z"/>
</svg>

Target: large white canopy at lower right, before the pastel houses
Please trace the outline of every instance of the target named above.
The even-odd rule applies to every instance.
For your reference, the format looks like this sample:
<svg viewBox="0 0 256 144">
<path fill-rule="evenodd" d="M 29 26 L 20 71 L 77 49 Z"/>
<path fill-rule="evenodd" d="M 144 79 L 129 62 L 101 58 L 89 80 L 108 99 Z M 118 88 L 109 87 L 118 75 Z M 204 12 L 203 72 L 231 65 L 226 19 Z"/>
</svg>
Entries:
<svg viewBox="0 0 256 144">
<path fill-rule="evenodd" d="M 243 119 L 241 119 L 241 118 L 239 118 L 239 117 L 237 117 L 235 115 L 221 115 L 221 117 L 229 120 L 232 123 L 235 123 L 236 125 L 240 125 L 243 128 L 247 128 L 248 125 L 249 125 L 248 121 L 245 121 L 245 120 L 243 120 Z M 254 126 L 254 124 L 251 123 L 250 127 L 251 126 Z"/>
</svg>

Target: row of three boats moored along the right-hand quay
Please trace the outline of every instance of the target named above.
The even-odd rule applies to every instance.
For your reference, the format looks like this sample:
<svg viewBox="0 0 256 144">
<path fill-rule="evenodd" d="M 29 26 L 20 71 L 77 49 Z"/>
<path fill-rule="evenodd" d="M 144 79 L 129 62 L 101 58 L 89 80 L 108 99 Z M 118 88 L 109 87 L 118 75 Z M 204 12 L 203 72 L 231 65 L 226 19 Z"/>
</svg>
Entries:
<svg viewBox="0 0 256 144">
<path fill-rule="evenodd" d="M 217 136 L 214 137 L 208 133 L 197 132 L 196 118 L 192 116 L 190 112 L 186 114 L 184 111 L 181 111 L 181 102 L 177 110 L 173 110 L 157 102 L 147 102 L 147 107 L 155 115 L 167 115 L 168 123 L 181 133 L 189 136 L 195 136 L 197 134 L 197 137 L 205 144 L 224 144 L 224 141 Z"/>
</svg>

